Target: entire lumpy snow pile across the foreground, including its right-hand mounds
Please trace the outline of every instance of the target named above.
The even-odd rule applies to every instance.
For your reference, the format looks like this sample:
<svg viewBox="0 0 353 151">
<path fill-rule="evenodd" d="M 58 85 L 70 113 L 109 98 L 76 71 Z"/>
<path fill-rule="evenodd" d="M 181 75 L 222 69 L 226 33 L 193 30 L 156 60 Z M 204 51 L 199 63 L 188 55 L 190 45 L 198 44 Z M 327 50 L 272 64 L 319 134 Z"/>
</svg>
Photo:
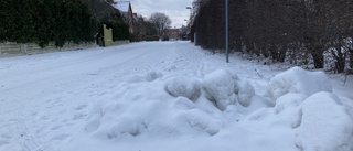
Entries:
<svg viewBox="0 0 353 151">
<path fill-rule="evenodd" d="M 276 105 L 268 107 L 264 104 L 266 97 L 256 95 L 248 82 L 228 69 L 214 71 L 204 78 L 163 77 L 151 72 L 131 76 L 111 100 L 93 106 L 85 130 L 107 140 L 191 136 L 220 139 L 229 132 L 232 137 L 257 136 L 245 140 L 247 143 L 286 141 L 265 150 L 349 151 L 353 148 L 352 117 L 338 97 L 323 93 L 331 91 L 331 86 L 319 83 L 320 78 L 327 77 L 298 67 L 275 76 L 269 89 Z M 229 126 L 236 129 L 225 129 Z M 220 132 L 223 130 L 226 132 Z M 242 141 L 236 137 L 233 140 Z M 259 148 L 263 145 L 254 149 Z"/>
</svg>

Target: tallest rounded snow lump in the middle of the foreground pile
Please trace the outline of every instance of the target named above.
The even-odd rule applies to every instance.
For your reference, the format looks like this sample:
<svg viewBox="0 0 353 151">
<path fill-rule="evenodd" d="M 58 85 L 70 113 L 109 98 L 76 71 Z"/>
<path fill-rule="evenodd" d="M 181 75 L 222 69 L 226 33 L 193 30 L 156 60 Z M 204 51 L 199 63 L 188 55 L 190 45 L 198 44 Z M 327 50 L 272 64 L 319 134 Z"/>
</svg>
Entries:
<svg viewBox="0 0 353 151">
<path fill-rule="evenodd" d="M 221 110 L 236 103 L 234 76 L 227 69 L 217 69 L 205 76 L 202 87 L 210 100 L 216 103 Z"/>
</svg>

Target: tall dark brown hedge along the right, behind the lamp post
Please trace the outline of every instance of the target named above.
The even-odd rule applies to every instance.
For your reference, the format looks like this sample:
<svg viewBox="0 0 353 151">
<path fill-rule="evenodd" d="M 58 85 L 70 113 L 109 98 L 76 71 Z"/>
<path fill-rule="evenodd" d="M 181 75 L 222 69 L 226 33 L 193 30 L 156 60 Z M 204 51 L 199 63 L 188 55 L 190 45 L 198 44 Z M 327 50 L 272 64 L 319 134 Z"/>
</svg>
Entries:
<svg viewBox="0 0 353 151">
<path fill-rule="evenodd" d="M 353 68 L 352 0 L 229 0 L 229 47 L 274 62 L 336 72 Z M 191 36 L 204 48 L 225 48 L 224 0 L 194 0 Z M 193 39 L 192 39 L 193 40 Z M 347 62 L 350 61 L 350 62 Z"/>
</svg>

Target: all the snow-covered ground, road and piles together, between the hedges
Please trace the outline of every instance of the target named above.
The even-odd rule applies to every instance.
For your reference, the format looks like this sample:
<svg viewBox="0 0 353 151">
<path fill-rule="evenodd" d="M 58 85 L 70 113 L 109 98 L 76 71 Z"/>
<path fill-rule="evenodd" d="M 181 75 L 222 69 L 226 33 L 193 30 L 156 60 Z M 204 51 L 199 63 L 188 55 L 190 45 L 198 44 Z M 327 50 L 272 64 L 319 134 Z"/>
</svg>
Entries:
<svg viewBox="0 0 353 151">
<path fill-rule="evenodd" d="M 0 151 L 353 151 L 353 79 L 190 42 L 0 58 Z"/>
</svg>

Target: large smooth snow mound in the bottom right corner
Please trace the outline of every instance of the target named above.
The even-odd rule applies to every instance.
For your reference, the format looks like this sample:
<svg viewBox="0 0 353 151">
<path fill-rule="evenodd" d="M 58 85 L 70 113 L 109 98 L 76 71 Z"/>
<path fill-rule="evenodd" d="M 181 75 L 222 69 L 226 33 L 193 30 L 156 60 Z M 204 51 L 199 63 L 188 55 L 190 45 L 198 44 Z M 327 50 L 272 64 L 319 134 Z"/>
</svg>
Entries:
<svg viewBox="0 0 353 151">
<path fill-rule="evenodd" d="M 296 129 L 297 147 L 303 151 L 350 151 L 353 120 L 340 99 L 318 93 L 301 104 L 301 123 Z"/>
</svg>

